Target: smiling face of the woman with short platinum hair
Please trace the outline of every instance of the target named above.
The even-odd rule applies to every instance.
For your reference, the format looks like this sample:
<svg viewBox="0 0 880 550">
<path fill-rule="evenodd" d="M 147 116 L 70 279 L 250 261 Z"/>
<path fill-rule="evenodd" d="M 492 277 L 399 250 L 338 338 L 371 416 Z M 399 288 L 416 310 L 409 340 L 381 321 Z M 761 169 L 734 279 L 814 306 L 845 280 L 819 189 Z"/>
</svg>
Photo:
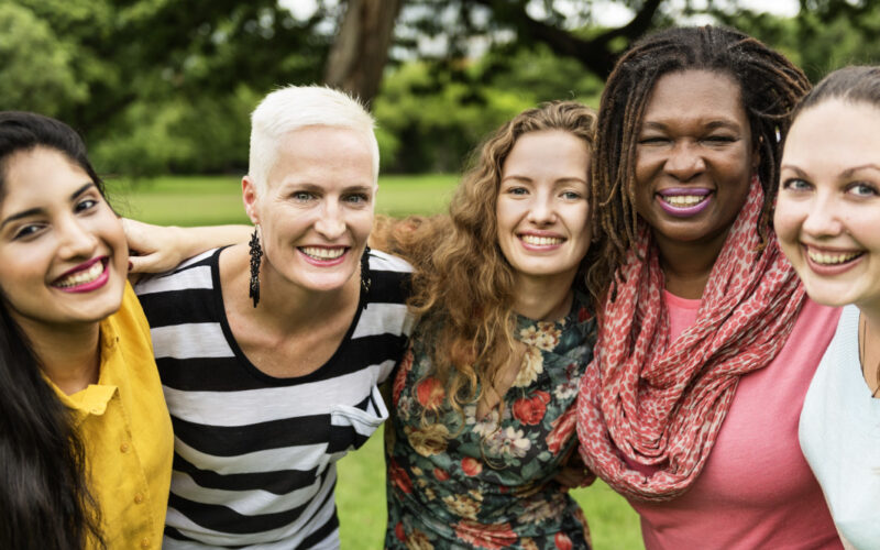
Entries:
<svg viewBox="0 0 880 550">
<path fill-rule="evenodd" d="M 265 187 L 257 195 L 248 177 L 242 184 L 248 215 L 261 228 L 261 273 L 315 292 L 341 288 L 358 272 L 373 227 L 370 143 L 341 128 L 292 131 Z"/>
</svg>

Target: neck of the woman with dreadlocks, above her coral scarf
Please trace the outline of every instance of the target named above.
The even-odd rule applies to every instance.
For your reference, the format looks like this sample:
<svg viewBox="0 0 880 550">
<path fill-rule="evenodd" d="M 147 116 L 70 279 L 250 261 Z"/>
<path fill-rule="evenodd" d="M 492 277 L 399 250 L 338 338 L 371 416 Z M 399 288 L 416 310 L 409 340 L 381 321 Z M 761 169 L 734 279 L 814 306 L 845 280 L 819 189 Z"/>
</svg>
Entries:
<svg viewBox="0 0 880 550">
<path fill-rule="evenodd" d="M 681 242 L 654 233 L 667 290 L 681 298 L 701 298 L 726 239 L 724 232 L 708 241 Z"/>
</svg>

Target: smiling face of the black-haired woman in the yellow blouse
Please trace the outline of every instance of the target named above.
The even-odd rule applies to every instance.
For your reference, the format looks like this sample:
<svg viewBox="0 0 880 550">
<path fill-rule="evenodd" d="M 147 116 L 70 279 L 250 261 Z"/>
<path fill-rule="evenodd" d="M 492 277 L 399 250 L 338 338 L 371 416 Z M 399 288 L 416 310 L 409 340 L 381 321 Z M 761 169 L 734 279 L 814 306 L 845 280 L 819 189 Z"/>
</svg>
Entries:
<svg viewBox="0 0 880 550">
<path fill-rule="evenodd" d="M 0 205 L 0 288 L 34 324 L 97 322 L 119 309 L 128 274 L 122 224 L 91 178 L 36 147 L 7 160 Z"/>
</svg>

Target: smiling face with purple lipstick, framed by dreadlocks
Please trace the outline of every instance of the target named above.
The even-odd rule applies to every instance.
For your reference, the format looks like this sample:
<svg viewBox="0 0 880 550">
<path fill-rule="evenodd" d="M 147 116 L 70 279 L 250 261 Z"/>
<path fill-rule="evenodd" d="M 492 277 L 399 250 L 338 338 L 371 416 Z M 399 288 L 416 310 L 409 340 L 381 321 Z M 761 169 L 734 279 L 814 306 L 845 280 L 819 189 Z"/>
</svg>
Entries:
<svg viewBox="0 0 880 550">
<path fill-rule="evenodd" d="M 638 136 L 636 209 L 661 246 L 721 250 L 757 166 L 729 75 L 691 69 L 657 80 Z"/>
</svg>

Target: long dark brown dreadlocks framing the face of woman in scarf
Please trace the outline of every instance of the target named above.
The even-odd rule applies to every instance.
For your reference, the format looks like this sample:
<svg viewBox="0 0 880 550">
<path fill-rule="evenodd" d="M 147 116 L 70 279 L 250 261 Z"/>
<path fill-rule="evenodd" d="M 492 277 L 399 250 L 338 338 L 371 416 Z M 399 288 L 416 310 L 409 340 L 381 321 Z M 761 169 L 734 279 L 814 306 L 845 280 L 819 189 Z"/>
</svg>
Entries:
<svg viewBox="0 0 880 550">
<path fill-rule="evenodd" d="M 606 239 L 598 261 L 587 271 L 590 287 L 609 288 L 642 223 L 635 207 L 636 148 L 651 91 L 662 76 L 691 69 L 723 73 L 739 84 L 760 156 L 765 204 L 758 232 L 762 239 L 768 235 L 781 144 L 790 113 L 810 90 L 810 81 L 785 56 L 739 31 L 710 25 L 667 29 L 634 44 L 617 62 L 602 94 L 591 200 L 593 232 Z"/>
</svg>

